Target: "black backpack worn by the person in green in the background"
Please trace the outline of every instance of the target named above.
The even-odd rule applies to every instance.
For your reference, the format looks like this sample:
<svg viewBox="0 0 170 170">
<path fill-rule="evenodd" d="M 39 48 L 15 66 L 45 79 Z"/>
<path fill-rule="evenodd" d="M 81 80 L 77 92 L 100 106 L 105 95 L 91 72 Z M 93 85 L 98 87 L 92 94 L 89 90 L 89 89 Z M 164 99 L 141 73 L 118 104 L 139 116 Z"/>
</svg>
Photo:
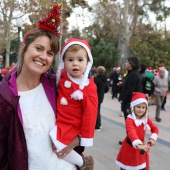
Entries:
<svg viewBox="0 0 170 170">
<path fill-rule="evenodd" d="M 143 93 L 145 94 L 153 94 L 155 90 L 155 84 L 154 82 L 146 77 L 143 85 Z"/>
</svg>

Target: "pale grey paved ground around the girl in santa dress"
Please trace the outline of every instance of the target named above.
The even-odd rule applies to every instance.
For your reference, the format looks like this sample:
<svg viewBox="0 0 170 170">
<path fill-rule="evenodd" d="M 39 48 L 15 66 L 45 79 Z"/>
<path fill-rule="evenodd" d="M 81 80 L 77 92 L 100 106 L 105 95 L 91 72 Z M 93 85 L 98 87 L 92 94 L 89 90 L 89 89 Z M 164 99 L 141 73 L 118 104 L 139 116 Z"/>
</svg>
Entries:
<svg viewBox="0 0 170 170">
<path fill-rule="evenodd" d="M 165 105 L 167 111 L 161 111 L 162 121 L 156 122 L 154 105 L 149 106 L 149 116 L 159 128 L 159 138 L 150 150 L 150 170 L 170 169 L 170 94 Z M 118 141 L 125 138 L 124 117 L 120 117 L 120 103 L 105 94 L 102 103 L 102 130 L 95 132 L 94 146 L 86 148 L 85 155 L 93 155 L 94 170 L 120 170 L 115 160 L 120 148 Z M 149 133 L 149 132 L 148 132 Z M 146 141 L 149 135 L 146 135 Z"/>
</svg>

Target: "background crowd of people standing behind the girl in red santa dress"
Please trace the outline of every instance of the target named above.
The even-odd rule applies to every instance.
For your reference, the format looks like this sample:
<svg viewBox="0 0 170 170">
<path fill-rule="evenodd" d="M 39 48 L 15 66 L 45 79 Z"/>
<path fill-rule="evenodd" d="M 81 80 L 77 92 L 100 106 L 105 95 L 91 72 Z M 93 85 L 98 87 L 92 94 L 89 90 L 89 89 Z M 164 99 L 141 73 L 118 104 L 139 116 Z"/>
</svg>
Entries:
<svg viewBox="0 0 170 170">
<path fill-rule="evenodd" d="M 133 64 L 130 64 L 129 60 Z M 163 64 L 158 69 L 152 69 L 151 66 L 139 64 L 135 57 L 129 57 L 125 63 L 126 72 L 121 73 L 114 67 L 110 75 L 112 99 L 119 94 L 118 100 L 121 103 L 121 114 L 124 113 L 126 119 L 129 109 L 132 92 L 143 92 L 147 95 L 148 105 L 156 105 L 155 120 L 161 121 L 160 111 L 166 111 L 165 104 L 168 95 L 168 71 Z M 133 74 L 132 74 L 133 73 Z M 127 76 L 128 75 L 128 76 Z M 118 83 L 120 81 L 121 82 Z M 115 90 L 116 89 L 116 90 Z M 116 91 L 116 92 L 115 92 Z M 122 92 L 122 93 L 121 93 Z"/>
</svg>

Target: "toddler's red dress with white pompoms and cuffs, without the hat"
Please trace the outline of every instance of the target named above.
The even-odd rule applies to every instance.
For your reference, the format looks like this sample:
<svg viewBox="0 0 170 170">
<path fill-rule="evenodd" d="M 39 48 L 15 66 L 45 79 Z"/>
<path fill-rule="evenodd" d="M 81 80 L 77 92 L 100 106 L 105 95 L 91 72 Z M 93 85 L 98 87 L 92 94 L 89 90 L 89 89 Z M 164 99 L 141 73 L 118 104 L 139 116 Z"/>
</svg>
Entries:
<svg viewBox="0 0 170 170">
<path fill-rule="evenodd" d="M 93 77 L 82 90 L 82 100 L 71 98 L 71 94 L 78 88 L 79 84 L 63 70 L 57 97 L 57 140 L 68 145 L 80 134 L 80 145 L 92 146 L 98 106 Z"/>
</svg>

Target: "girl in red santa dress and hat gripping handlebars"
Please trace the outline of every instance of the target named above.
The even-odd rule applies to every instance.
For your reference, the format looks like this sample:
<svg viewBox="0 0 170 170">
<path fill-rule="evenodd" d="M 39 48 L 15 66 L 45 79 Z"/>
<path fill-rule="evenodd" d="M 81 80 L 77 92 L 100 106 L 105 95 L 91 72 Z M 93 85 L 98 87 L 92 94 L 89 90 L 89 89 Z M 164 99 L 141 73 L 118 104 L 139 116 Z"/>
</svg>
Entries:
<svg viewBox="0 0 170 170">
<path fill-rule="evenodd" d="M 133 92 L 130 106 L 131 114 L 126 119 L 127 136 L 118 153 L 116 164 L 121 170 L 146 170 L 147 155 L 140 151 L 149 150 L 148 142 L 151 146 L 155 145 L 158 128 L 147 115 L 148 102 L 144 93 Z M 146 130 L 151 131 L 148 142 L 144 142 Z"/>
</svg>

